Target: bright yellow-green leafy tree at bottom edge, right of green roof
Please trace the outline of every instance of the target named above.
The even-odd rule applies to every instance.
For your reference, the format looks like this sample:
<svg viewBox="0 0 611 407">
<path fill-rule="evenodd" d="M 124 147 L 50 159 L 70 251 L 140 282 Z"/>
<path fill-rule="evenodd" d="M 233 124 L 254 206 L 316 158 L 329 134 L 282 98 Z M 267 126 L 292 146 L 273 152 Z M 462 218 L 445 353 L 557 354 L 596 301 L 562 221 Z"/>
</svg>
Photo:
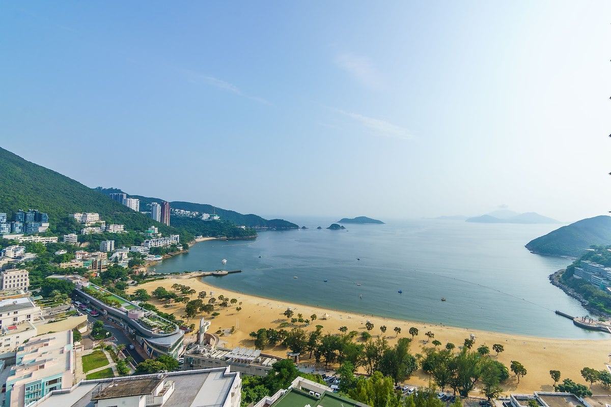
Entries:
<svg viewBox="0 0 611 407">
<path fill-rule="evenodd" d="M 370 378 L 360 377 L 348 397 L 373 407 L 398 407 L 401 403 L 401 395 L 395 394 L 392 379 L 380 372 L 374 372 Z"/>
</svg>

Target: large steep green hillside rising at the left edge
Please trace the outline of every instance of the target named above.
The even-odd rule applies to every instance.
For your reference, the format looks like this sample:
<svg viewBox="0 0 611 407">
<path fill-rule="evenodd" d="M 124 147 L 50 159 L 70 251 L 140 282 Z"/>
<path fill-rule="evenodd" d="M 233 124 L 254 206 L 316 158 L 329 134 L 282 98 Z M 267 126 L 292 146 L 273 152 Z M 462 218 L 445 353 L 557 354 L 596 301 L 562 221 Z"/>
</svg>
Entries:
<svg viewBox="0 0 611 407">
<path fill-rule="evenodd" d="M 18 209 L 46 212 L 52 232 L 64 232 L 65 228 L 75 226 L 66 219 L 68 214 L 98 212 L 107 223 L 119 223 L 126 229 L 145 231 L 155 225 L 164 234 L 180 234 L 183 242 L 193 238 L 189 232 L 155 222 L 74 179 L 3 148 L 0 148 L 0 185 L 0 212 L 7 212 L 9 217 Z"/>
</svg>

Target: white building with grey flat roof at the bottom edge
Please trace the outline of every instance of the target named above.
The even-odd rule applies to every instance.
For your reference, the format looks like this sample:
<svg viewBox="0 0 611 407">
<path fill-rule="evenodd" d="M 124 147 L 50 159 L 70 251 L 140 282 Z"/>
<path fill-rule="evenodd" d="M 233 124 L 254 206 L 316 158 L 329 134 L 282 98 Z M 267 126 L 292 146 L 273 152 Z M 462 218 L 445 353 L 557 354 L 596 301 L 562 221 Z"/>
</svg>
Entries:
<svg viewBox="0 0 611 407">
<path fill-rule="evenodd" d="M 82 380 L 69 391 L 53 392 L 30 407 L 240 407 L 241 391 L 240 373 L 202 369 Z"/>
</svg>

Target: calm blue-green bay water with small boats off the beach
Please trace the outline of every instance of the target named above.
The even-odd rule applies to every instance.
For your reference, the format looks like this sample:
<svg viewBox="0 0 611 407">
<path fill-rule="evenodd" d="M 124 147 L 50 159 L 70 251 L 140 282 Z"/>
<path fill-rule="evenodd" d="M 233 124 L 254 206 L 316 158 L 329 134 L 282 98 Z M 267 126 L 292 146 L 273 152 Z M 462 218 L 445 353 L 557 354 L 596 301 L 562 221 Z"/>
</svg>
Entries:
<svg viewBox="0 0 611 407">
<path fill-rule="evenodd" d="M 292 220 L 309 229 L 260 232 L 254 241 L 197 243 L 156 265 L 156 271 L 241 269 L 205 281 L 276 300 L 398 319 L 543 337 L 609 337 L 554 314 L 555 309 L 587 314 L 547 278 L 571 261 L 524 248 L 557 225 L 411 220 L 331 231 L 324 229 L 330 219 Z"/>
</svg>

